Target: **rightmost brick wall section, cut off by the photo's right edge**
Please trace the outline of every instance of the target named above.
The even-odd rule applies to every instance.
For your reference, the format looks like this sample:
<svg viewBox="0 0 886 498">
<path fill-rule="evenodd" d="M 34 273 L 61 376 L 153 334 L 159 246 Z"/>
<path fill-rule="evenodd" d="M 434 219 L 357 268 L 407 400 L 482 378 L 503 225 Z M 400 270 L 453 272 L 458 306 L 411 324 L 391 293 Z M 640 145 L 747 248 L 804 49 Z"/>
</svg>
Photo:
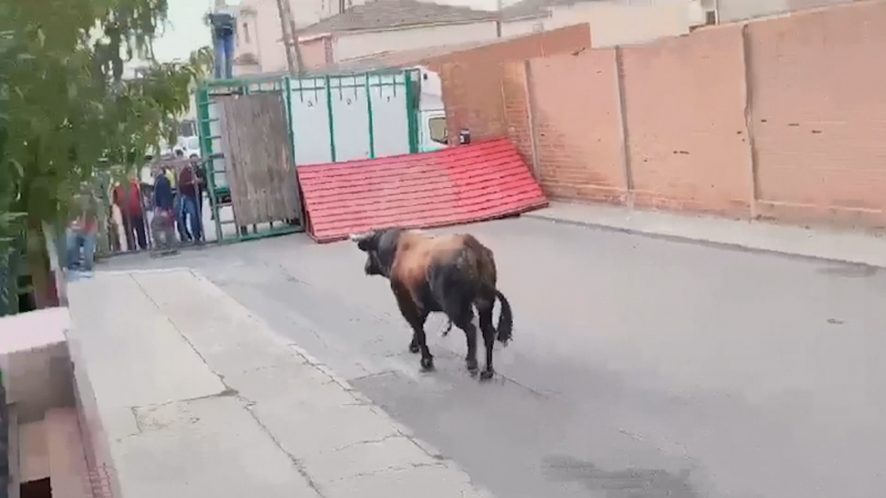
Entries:
<svg viewBox="0 0 886 498">
<path fill-rule="evenodd" d="M 766 217 L 886 222 L 886 3 L 748 27 Z"/>
</svg>

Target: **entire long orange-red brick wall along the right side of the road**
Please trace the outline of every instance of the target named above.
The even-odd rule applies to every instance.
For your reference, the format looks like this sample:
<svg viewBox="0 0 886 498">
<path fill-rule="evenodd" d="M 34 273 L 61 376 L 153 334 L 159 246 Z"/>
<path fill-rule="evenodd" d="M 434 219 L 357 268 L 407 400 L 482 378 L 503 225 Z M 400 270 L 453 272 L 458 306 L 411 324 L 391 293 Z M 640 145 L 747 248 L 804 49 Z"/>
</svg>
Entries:
<svg viewBox="0 0 886 498">
<path fill-rule="evenodd" d="M 443 64 L 444 101 L 453 132 L 509 136 L 555 199 L 884 228 L 884 53 L 886 2 L 858 2 L 528 63 L 467 58 Z"/>
</svg>

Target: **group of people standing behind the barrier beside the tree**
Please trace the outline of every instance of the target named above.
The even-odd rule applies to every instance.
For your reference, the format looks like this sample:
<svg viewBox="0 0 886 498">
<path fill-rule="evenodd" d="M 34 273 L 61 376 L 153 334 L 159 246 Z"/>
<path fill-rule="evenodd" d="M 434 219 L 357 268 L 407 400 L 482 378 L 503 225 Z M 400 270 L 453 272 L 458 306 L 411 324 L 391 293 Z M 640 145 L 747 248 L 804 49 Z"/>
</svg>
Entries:
<svg viewBox="0 0 886 498">
<path fill-rule="evenodd" d="M 187 163 L 177 172 L 175 169 L 162 167 L 154 177 L 153 193 L 147 195 L 136 179 L 128 179 L 113 188 L 113 204 L 120 210 L 130 250 L 148 249 L 147 226 L 152 227 L 155 247 L 162 250 L 173 249 L 175 231 L 181 242 L 204 242 L 202 199 L 206 191 L 206 175 L 197 162 Z M 145 187 L 150 190 L 152 186 Z M 95 195 L 89 191 L 87 186 L 74 196 L 66 230 L 69 270 L 92 271 L 100 209 Z M 113 215 L 109 216 L 109 234 L 111 239 L 116 238 Z"/>
</svg>

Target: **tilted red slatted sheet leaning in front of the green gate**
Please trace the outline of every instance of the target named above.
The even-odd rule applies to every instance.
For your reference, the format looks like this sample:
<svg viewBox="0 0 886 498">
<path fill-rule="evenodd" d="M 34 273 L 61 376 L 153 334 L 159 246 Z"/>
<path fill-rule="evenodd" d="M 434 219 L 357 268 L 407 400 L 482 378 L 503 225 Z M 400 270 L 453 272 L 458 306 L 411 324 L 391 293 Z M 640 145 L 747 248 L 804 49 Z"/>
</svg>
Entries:
<svg viewBox="0 0 886 498">
<path fill-rule="evenodd" d="M 300 166 L 308 232 L 318 242 L 373 228 L 432 228 L 547 206 L 511 141 Z"/>
</svg>

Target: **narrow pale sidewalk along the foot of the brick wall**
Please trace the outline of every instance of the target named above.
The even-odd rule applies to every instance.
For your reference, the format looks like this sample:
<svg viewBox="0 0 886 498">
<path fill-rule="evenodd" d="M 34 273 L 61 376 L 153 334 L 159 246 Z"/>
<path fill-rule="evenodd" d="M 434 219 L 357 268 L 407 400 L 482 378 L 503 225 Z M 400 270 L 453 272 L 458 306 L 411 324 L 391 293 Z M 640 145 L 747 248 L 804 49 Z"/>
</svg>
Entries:
<svg viewBox="0 0 886 498">
<path fill-rule="evenodd" d="M 569 203 L 550 203 L 547 208 L 523 216 L 629 234 L 886 267 L 886 237 L 862 232 Z"/>
</svg>

